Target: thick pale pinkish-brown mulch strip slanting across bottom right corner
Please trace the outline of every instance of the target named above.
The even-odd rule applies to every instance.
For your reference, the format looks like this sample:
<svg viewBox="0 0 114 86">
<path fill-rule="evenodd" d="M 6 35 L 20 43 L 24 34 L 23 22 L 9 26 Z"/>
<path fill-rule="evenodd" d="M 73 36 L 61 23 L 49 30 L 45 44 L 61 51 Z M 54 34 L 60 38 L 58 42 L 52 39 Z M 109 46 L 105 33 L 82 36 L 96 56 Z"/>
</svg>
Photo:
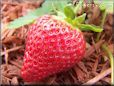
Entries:
<svg viewBox="0 0 114 86">
<path fill-rule="evenodd" d="M 99 81 L 102 78 L 104 78 L 105 76 L 109 75 L 110 73 L 111 73 L 111 68 L 109 68 L 109 69 L 105 70 L 104 72 L 100 73 L 99 75 L 97 75 L 93 79 L 89 80 L 88 82 L 84 83 L 83 85 L 93 85 L 97 81 Z"/>
</svg>

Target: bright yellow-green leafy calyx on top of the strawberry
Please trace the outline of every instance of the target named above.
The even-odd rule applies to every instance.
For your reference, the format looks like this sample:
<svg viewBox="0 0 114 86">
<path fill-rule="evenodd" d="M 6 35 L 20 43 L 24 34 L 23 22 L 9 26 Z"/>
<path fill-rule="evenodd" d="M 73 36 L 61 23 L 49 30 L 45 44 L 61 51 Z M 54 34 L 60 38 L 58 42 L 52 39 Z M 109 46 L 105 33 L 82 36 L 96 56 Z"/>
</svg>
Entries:
<svg viewBox="0 0 114 86">
<path fill-rule="evenodd" d="M 80 1 L 76 7 L 69 5 L 64 8 L 64 14 L 66 15 L 65 20 L 70 23 L 73 27 L 79 28 L 81 31 L 93 31 L 102 32 L 103 29 L 100 26 L 85 24 L 86 13 L 77 16 L 78 11 L 82 8 L 82 1 Z"/>
</svg>

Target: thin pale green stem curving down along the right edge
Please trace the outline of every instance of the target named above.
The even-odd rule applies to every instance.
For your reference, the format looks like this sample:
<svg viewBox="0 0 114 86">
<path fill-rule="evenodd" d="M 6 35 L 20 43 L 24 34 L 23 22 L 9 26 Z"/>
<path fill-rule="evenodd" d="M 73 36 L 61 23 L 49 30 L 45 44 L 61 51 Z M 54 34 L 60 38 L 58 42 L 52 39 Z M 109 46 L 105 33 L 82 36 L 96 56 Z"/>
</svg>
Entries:
<svg viewBox="0 0 114 86">
<path fill-rule="evenodd" d="M 109 48 L 106 44 L 102 45 L 103 50 L 108 54 L 110 58 L 110 65 L 111 65 L 111 84 L 114 85 L 114 57 Z"/>
</svg>

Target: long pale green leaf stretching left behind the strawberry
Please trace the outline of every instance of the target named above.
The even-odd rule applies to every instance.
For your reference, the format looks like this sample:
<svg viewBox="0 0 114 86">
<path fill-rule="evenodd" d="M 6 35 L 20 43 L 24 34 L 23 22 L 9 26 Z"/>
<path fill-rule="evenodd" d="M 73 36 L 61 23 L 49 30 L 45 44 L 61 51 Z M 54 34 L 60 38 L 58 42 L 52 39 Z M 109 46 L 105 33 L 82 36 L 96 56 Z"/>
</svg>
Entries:
<svg viewBox="0 0 114 86">
<path fill-rule="evenodd" d="M 49 13 L 52 10 L 52 7 L 49 5 L 48 0 L 46 0 L 41 8 L 37 8 L 27 15 L 20 17 L 18 19 L 15 19 L 14 21 L 10 22 L 8 24 L 8 29 L 16 29 L 21 26 L 27 25 L 32 23 L 38 16 L 41 16 L 43 14 Z"/>
</svg>

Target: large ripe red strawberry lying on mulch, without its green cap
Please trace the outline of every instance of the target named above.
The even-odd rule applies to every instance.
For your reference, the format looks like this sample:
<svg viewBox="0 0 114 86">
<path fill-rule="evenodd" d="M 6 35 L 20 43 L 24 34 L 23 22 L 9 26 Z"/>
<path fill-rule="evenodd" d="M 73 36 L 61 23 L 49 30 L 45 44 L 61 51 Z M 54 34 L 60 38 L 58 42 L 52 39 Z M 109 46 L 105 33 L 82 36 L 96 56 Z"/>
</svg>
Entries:
<svg viewBox="0 0 114 86">
<path fill-rule="evenodd" d="M 83 34 L 67 22 L 52 15 L 38 18 L 26 39 L 23 79 L 35 82 L 68 70 L 83 58 L 85 45 Z"/>
</svg>

